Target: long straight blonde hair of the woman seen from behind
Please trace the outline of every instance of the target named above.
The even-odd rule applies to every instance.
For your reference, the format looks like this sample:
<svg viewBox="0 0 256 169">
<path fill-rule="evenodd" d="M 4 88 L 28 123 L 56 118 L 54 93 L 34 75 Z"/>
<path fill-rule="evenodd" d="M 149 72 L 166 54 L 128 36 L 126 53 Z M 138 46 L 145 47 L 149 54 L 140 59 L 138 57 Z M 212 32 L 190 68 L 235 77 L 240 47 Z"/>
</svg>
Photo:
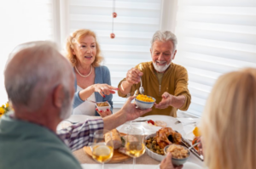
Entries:
<svg viewBox="0 0 256 169">
<path fill-rule="evenodd" d="M 201 119 L 209 169 L 256 168 L 256 69 L 220 76 Z"/>
</svg>

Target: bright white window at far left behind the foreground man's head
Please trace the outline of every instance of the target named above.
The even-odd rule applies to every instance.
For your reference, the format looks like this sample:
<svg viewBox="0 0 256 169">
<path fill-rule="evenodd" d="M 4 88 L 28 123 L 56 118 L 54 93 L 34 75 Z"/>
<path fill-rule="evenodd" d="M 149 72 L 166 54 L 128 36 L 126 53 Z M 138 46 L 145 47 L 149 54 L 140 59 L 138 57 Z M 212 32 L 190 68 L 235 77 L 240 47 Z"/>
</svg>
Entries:
<svg viewBox="0 0 256 169">
<path fill-rule="evenodd" d="M 0 2 L 0 105 L 8 101 L 3 70 L 16 45 L 39 40 L 55 41 L 54 3 L 51 0 L 5 0 Z"/>
</svg>

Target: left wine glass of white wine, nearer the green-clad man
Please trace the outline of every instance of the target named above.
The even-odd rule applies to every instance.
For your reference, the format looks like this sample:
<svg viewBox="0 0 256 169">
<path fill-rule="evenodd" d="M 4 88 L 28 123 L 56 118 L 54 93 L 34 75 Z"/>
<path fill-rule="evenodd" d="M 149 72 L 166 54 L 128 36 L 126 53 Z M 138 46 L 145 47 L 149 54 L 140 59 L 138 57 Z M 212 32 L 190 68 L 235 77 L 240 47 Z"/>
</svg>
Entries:
<svg viewBox="0 0 256 169">
<path fill-rule="evenodd" d="M 112 133 L 108 130 L 97 130 L 94 132 L 92 158 L 102 163 L 102 169 L 104 169 L 104 163 L 110 161 L 113 156 L 113 139 Z"/>
</svg>

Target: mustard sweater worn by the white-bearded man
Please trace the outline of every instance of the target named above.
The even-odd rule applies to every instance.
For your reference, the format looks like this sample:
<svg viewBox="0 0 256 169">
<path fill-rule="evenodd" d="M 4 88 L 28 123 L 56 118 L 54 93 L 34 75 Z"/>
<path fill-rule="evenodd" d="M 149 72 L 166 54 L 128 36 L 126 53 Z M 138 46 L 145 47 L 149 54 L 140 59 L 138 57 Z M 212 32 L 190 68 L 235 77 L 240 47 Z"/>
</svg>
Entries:
<svg viewBox="0 0 256 169">
<path fill-rule="evenodd" d="M 154 65 L 151 62 L 141 63 L 136 66 L 138 70 L 143 72 L 142 81 L 144 87 L 144 94 L 153 97 L 156 99 L 156 103 L 160 103 L 162 99 L 162 94 L 167 92 L 174 96 L 184 95 L 185 96 L 185 103 L 179 110 L 188 110 L 189 104 L 191 102 L 191 95 L 188 89 L 188 72 L 187 70 L 181 66 L 176 65 L 174 63 L 166 70 L 164 76 L 162 78 L 162 82 L 160 84 L 157 76 L 155 75 Z M 121 82 L 125 81 L 123 79 Z M 119 87 L 121 82 L 119 82 Z M 131 87 L 130 93 L 133 93 L 140 87 L 140 83 L 134 84 Z M 120 97 L 126 97 L 125 94 L 119 93 Z M 167 107 L 166 109 L 160 110 L 155 109 L 153 107 L 152 111 L 148 112 L 147 114 L 143 115 L 171 115 L 173 117 L 177 116 L 177 108 L 172 106 Z"/>
</svg>

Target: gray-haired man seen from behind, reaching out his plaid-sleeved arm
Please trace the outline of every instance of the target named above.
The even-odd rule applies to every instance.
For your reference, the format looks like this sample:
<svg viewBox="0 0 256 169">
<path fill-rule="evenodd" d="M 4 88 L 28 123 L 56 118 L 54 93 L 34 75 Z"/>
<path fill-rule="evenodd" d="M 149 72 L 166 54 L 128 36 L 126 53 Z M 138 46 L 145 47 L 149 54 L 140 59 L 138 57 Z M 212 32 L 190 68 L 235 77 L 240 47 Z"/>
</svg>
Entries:
<svg viewBox="0 0 256 169">
<path fill-rule="evenodd" d="M 56 133 L 71 114 L 72 66 L 52 42 L 28 42 L 14 52 L 4 71 L 13 112 L 0 121 L 0 168 L 81 168 L 71 150 L 88 145 L 98 129 L 113 129 L 136 119 L 130 98 L 121 110 L 104 119 L 84 121 Z"/>
</svg>

